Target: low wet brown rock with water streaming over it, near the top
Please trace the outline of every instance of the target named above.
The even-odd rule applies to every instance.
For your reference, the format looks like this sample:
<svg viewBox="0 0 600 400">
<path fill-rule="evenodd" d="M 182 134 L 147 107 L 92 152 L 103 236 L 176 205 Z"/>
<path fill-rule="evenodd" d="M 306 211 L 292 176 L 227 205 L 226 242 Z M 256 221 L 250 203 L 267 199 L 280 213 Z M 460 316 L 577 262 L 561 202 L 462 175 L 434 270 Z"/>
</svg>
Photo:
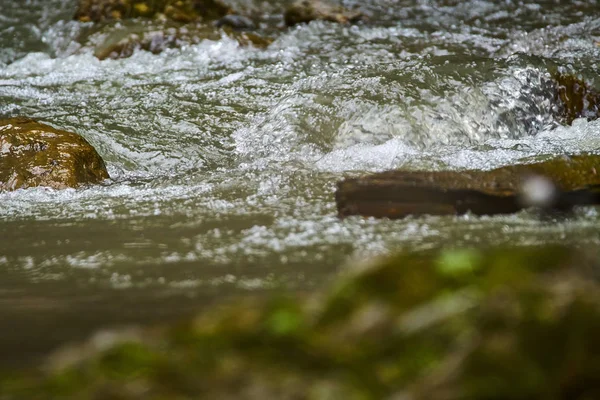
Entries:
<svg viewBox="0 0 600 400">
<path fill-rule="evenodd" d="M 223 35 L 237 40 L 241 46 L 265 48 L 273 42 L 269 37 L 254 32 L 234 30 L 227 25 L 219 28 L 199 23 L 186 25 L 128 23 L 120 29 L 111 26 L 106 28 L 111 30 L 110 33 L 100 30 L 84 39 L 92 43 L 94 55 L 100 60 L 127 58 L 137 50 L 159 54 L 169 48 L 181 48 L 198 44 L 203 40 L 219 40 Z M 89 44 L 84 45 L 87 46 Z"/>
</svg>

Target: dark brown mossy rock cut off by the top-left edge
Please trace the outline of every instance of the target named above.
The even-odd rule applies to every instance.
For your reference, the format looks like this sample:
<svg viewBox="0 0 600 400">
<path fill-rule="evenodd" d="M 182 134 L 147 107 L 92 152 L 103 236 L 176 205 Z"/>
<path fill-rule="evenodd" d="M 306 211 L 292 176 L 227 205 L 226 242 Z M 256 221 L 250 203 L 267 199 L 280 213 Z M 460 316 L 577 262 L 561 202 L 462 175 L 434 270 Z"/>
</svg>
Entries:
<svg viewBox="0 0 600 400">
<path fill-rule="evenodd" d="M 109 21 L 166 16 L 173 21 L 211 21 L 231 12 L 219 0 L 80 0 L 75 19 Z"/>
</svg>

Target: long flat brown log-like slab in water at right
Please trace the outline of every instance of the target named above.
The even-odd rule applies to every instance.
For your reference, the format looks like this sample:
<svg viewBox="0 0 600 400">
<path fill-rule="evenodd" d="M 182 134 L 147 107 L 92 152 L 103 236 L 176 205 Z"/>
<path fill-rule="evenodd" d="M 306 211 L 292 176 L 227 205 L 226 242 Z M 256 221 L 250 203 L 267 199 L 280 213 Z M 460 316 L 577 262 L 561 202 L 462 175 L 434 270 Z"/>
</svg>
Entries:
<svg viewBox="0 0 600 400">
<path fill-rule="evenodd" d="M 341 218 L 510 214 L 530 206 L 563 211 L 600 204 L 596 167 L 600 156 L 577 155 L 491 171 L 386 171 L 338 182 L 335 198 Z"/>
</svg>

